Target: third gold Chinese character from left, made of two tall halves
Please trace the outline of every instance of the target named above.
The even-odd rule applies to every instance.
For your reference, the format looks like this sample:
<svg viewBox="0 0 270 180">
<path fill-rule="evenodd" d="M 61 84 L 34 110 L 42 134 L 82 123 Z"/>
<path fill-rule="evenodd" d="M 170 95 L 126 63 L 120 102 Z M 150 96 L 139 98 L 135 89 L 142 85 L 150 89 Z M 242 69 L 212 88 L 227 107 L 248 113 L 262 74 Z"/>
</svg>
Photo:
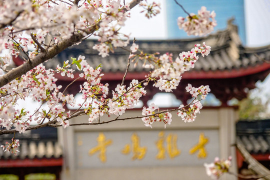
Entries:
<svg viewBox="0 0 270 180">
<path fill-rule="evenodd" d="M 164 132 L 161 131 L 158 133 L 158 140 L 156 141 L 155 145 L 158 149 L 157 155 L 155 156 L 157 159 L 164 159 L 165 158 L 165 150 L 167 149 L 167 153 L 170 158 L 174 158 L 180 154 L 181 150 L 177 148 L 177 135 L 168 134 L 166 137 L 166 149 L 163 145 L 164 143 Z"/>
</svg>

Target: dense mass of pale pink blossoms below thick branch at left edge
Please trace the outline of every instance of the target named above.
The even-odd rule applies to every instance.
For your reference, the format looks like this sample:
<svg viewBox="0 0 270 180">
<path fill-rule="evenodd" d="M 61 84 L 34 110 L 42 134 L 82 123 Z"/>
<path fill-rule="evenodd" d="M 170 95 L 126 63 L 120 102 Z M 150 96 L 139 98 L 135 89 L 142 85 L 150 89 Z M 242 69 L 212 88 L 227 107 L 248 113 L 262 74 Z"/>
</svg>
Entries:
<svg viewBox="0 0 270 180">
<path fill-rule="evenodd" d="M 62 68 L 64 69 L 64 68 Z M 13 125 L 19 133 L 23 133 L 32 120 L 40 123 L 42 119 L 56 119 L 63 126 L 68 125 L 64 119 L 68 117 L 69 112 L 65 112 L 64 105 L 74 105 L 72 94 L 63 94 L 59 92 L 61 85 L 56 85 L 56 78 L 52 69 L 45 69 L 42 64 L 34 67 L 18 79 L 14 79 L 0 88 L 2 98 L 0 99 L 0 125 L 10 129 Z M 15 109 L 13 104 L 17 100 L 31 97 L 38 102 L 46 102 L 50 110 L 37 108 L 34 114 L 28 111 Z M 4 97 L 4 98 L 3 98 Z"/>
</svg>

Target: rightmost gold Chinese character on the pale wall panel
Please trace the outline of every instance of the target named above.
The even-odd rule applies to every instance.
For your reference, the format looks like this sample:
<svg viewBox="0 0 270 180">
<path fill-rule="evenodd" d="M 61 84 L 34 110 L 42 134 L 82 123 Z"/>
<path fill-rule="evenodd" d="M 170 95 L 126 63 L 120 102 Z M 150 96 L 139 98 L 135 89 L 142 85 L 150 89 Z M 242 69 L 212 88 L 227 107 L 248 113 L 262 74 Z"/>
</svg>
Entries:
<svg viewBox="0 0 270 180">
<path fill-rule="evenodd" d="M 205 158 L 207 156 L 207 151 L 204 147 L 204 145 L 208 142 L 208 138 L 204 137 L 203 133 L 199 134 L 199 140 L 196 145 L 194 145 L 190 150 L 189 154 L 193 154 L 196 151 L 198 151 L 197 157 L 198 158 Z"/>
</svg>

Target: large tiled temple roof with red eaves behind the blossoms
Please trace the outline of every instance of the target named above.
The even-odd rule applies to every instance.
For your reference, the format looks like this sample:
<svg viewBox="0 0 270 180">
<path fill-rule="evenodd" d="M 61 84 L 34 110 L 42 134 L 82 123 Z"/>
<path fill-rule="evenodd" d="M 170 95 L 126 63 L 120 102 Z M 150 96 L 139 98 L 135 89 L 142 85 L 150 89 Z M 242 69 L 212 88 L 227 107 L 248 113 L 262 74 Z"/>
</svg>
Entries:
<svg viewBox="0 0 270 180">
<path fill-rule="evenodd" d="M 227 100 L 233 97 L 239 100 L 246 97 L 247 90 L 254 88 L 255 83 L 258 80 L 263 80 L 270 72 L 270 63 L 267 63 L 270 60 L 270 45 L 255 48 L 243 47 L 237 34 L 237 26 L 231 23 L 228 23 L 226 29 L 205 37 L 184 40 L 137 40 L 136 44 L 145 53 L 159 52 L 163 54 L 169 52 L 173 54 L 175 59 L 180 52 L 190 50 L 194 47 L 194 44 L 202 44 L 204 41 L 211 46 L 210 54 L 205 57 L 199 56 L 195 67 L 182 74 L 180 85 L 173 91 L 183 103 L 190 98 L 184 89 L 187 83 L 191 83 L 193 86 L 208 84 L 210 88 L 214 87 L 211 88 L 211 92 L 223 105 L 226 105 Z M 78 57 L 81 54 L 93 67 L 101 63 L 101 69 L 104 73 L 102 82 L 108 82 L 114 88 L 122 80 L 129 52 L 117 48 L 114 53 L 102 58 L 96 50 L 92 49 L 92 46 L 96 43 L 98 43 L 97 40 L 86 39 L 79 45 L 71 46 L 60 52 L 52 60 L 48 60 L 45 66 L 55 68 L 57 64 L 63 64 L 63 61 L 67 59 L 70 60 L 70 57 Z M 14 62 L 16 65 L 22 63 L 18 58 L 14 58 Z M 132 64 L 129 66 L 129 72 L 125 78 L 126 83 L 132 79 L 144 79 L 150 69 L 144 69 L 142 63 L 142 61 L 138 61 L 136 67 Z M 78 77 L 78 74 L 74 76 Z M 72 79 L 62 77 L 59 74 L 56 74 L 56 78 L 63 85 L 72 81 Z M 78 83 L 83 80 L 83 78 L 78 79 L 70 86 L 68 92 L 77 93 L 79 91 Z M 146 102 L 159 91 L 153 89 L 150 85 L 146 87 L 146 90 L 149 91 L 143 102 Z"/>
</svg>

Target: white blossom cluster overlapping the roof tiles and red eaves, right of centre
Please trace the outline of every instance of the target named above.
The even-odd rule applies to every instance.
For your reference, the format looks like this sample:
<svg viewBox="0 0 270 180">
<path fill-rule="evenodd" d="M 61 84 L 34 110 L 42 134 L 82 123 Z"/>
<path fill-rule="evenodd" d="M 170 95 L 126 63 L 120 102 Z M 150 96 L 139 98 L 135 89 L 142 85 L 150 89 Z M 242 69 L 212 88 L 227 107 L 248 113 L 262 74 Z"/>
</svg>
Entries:
<svg viewBox="0 0 270 180">
<path fill-rule="evenodd" d="M 158 87 L 160 90 L 170 92 L 178 86 L 181 80 L 181 74 L 188 71 L 190 68 L 194 68 L 194 64 L 198 60 L 197 53 L 200 53 L 204 57 L 204 55 L 210 53 L 210 50 L 211 47 L 203 42 L 202 46 L 195 44 L 194 48 L 190 51 L 182 51 L 174 61 L 172 60 L 172 54 L 169 53 L 155 57 L 153 54 L 148 55 L 141 52 L 140 54 L 131 55 L 131 57 L 134 60 L 139 56 L 140 59 L 148 61 L 149 63 L 144 62 L 143 66 L 145 68 L 153 68 L 151 76 L 149 77 L 149 80 L 154 80 L 153 86 Z M 147 84 L 147 82 L 145 84 Z"/>
</svg>

